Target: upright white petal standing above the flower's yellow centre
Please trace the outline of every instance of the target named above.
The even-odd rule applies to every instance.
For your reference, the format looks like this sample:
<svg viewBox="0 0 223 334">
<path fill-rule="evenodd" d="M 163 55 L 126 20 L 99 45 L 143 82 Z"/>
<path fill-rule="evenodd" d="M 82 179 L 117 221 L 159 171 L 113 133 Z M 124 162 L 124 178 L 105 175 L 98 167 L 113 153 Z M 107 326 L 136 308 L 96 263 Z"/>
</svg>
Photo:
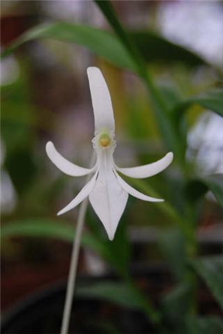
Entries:
<svg viewBox="0 0 223 334">
<path fill-rule="evenodd" d="M 88 80 L 94 109 L 95 132 L 100 132 L 101 129 L 110 129 L 111 132 L 115 132 L 110 93 L 99 68 L 88 67 Z"/>
</svg>

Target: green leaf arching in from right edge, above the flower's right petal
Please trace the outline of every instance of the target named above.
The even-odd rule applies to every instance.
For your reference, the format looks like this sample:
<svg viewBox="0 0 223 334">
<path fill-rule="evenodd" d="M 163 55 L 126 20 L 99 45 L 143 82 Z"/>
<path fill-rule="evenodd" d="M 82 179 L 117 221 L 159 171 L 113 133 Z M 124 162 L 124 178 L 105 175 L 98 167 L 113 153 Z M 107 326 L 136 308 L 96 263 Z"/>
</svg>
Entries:
<svg viewBox="0 0 223 334">
<path fill-rule="evenodd" d="M 190 97 L 188 100 L 177 104 L 173 113 L 176 117 L 181 118 L 183 113 L 193 104 L 199 104 L 205 109 L 210 109 L 218 115 L 223 116 L 223 90 L 207 93 L 206 95 Z"/>
</svg>

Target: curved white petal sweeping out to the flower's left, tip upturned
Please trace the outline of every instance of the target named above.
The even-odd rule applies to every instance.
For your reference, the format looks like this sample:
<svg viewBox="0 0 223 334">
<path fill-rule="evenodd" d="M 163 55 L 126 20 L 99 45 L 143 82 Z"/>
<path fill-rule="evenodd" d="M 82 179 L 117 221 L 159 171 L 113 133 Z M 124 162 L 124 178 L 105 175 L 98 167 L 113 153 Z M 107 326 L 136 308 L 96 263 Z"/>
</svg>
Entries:
<svg viewBox="0 0 223 334">
<path fill-rule="evenodd" d="M 49 159 L 51 159 L 51 161 L 53 162 L 53 164 L 67 175 L 71 176 L 88 175 L 94 172 L 94 170 L 96 169 L 96 166 L 94 166 L 93 168 L 83 168 L 72 164 L 72 162 L 69 162 L 67 159 L 62 157 L 62 155 L 56 150 L 51 141 L 48 141 L 46 145 L 46 152 Z"/>
</svg>

